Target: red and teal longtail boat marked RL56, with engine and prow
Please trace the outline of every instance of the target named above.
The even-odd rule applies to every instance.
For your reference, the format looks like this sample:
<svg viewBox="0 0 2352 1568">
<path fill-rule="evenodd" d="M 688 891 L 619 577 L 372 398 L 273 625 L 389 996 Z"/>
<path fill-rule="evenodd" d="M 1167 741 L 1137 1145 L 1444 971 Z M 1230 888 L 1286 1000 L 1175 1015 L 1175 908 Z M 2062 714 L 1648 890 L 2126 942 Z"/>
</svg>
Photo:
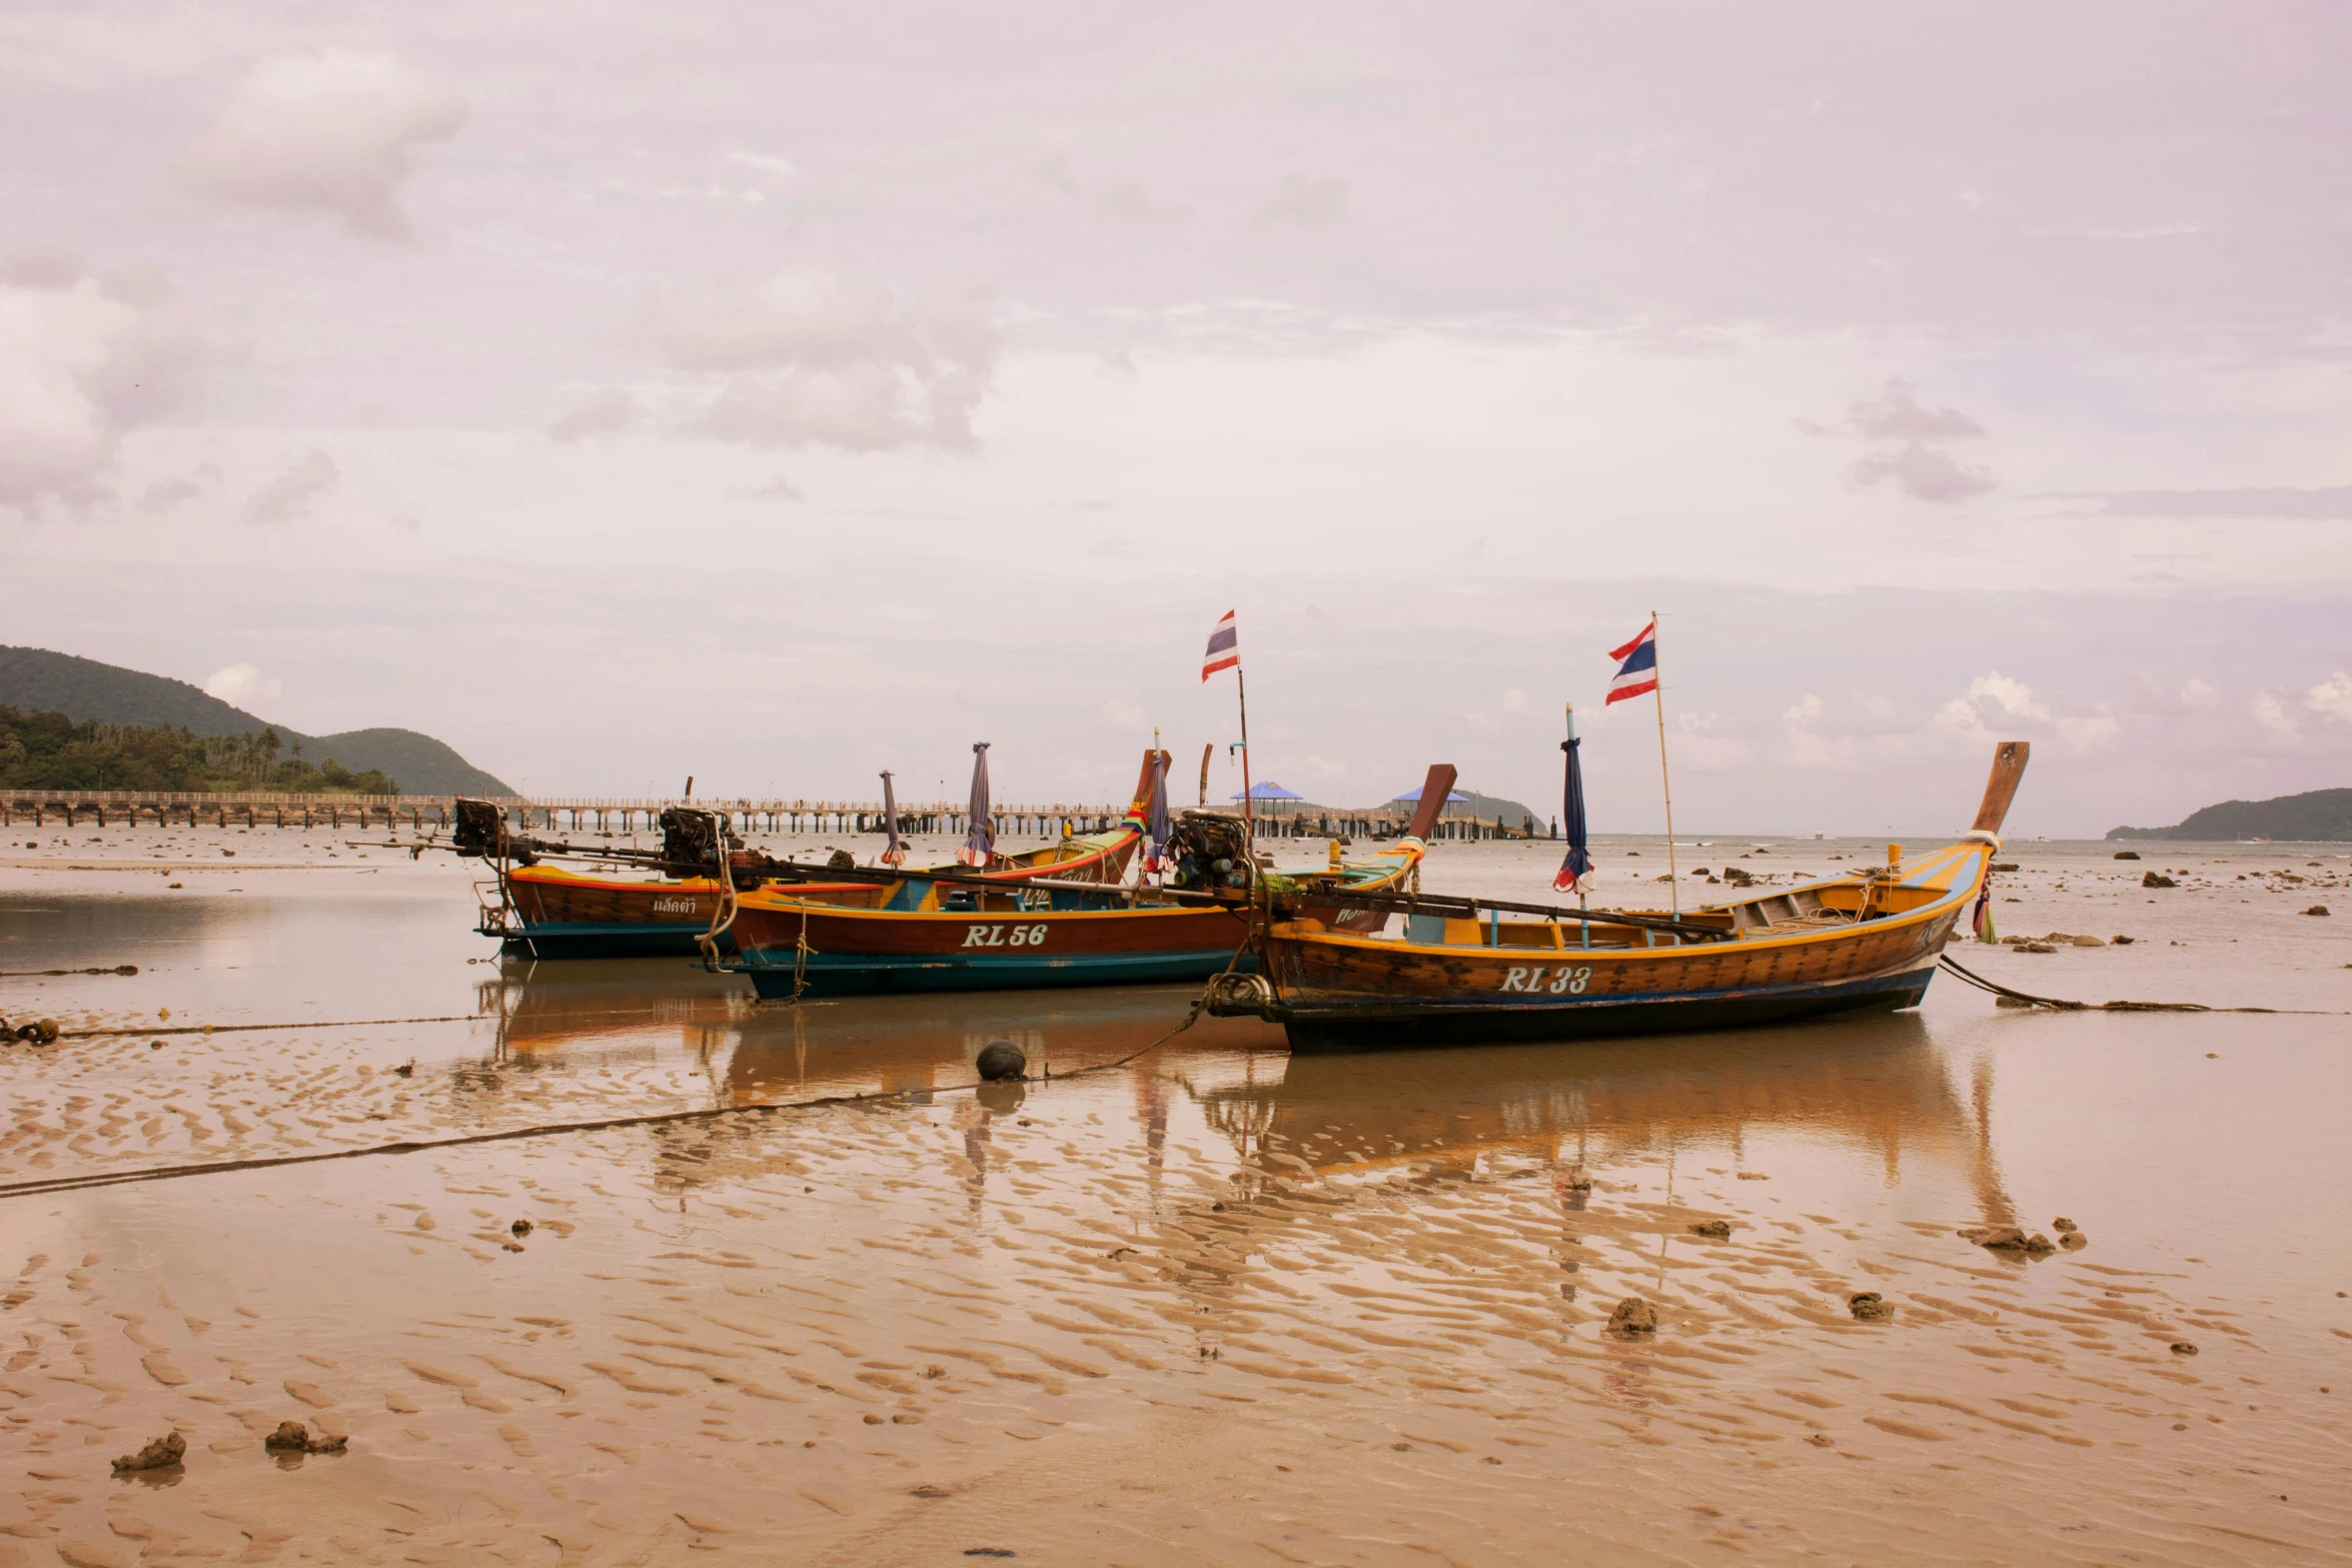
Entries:
<svg viewBox="0 0 2352 1568">
<path fill-rule="evenodd" d="M 760 889 L 734 917 L 736 969 L 776 999 L 1202 980 L 1235 966 L 1263 907 L 1385 924 L 1381 912 L 1334 900 L 1402 893 L 1416 882 L 1454 769 L 1432 766 L 1430 783 L 1437 788 L 1423 790 L 1404 837 L 1305 877 L 1268 875 L 1242 818 L 1185 811 L 1169 832 L 1169 886 L 971 886 L 953 875 L 908 875 L 863 907 Z M 1164 778 L 1155 795 L 1162 790 Z M 1164 795 L 1148 816 L 1164 816 L 1160 802 Z"/>
</svg>

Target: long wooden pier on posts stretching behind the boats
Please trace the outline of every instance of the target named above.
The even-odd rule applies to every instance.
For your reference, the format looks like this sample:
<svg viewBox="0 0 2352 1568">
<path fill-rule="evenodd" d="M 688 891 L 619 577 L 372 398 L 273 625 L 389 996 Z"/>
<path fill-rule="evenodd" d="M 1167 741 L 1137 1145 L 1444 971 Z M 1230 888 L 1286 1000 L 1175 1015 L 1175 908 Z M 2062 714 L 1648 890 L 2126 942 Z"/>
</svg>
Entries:
<svg viewBox="0 0 2352 1568">
<path fill-rule="evenodd" d="M 882 802 L 877 799 L 607 799 L 607 797 L 503 797 L 494 799 L 517 827 L 543 827 L 548 832 L 654 832 L 661 813 L 670 806 L 696 806 L 717 811 L 739 832 L 809 832 L 809 835 L 856 835 L 882 832 Z M 409 827 L 416 835 L 442 832 L 456 813 L 454 795 L 263 795 L 263 792 L 172 792 L 172 790 L 0 790 L 0 827 L 66 825 L 80 827 L 136 827 L 155 823 L 167 827 L 186 823 L 191 827 Z M 1007 804 L 990 813 L 997 837 L 1058 837 L 1063 832 L 1087 835 L 1117 827 L 1127 806 L 1089 806 L 1054 802 L 1042 806 Z M 1376 811 L 1341 811 L 1312 806 L 1308 811 L 1284 811 L 1258 818 L 1263 839 L 1392 839 L 1404 832 L 1409 811 L 1381 806 Z M 971 830 L 971 816 L 960 802 L 898 804 L 901 835 L 953 835 Z M 1430 835 L 1432 839 L 1526 839 L 1545 837 L 1545 825 L 1534 832 L 1505 827 L 1501 820 L 1484 823 L 1470 813 L 1446 811 Z"/>
</svg>

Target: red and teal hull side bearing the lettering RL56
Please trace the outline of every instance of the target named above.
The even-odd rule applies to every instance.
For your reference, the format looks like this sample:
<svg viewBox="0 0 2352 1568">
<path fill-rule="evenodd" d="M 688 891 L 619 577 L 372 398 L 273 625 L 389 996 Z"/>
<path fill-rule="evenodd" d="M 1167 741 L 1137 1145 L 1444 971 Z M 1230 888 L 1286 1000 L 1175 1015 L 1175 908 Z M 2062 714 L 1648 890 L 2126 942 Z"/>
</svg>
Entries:
<svg viewBox="0 0 2352 1568">
<path fill-rule="evenodd" d="M 736 969 L 762 997 L 1054 990 L 1204 980 L 1235 961 L 1244 910 L 908 912 L 746 905 Z"/>
</svg>

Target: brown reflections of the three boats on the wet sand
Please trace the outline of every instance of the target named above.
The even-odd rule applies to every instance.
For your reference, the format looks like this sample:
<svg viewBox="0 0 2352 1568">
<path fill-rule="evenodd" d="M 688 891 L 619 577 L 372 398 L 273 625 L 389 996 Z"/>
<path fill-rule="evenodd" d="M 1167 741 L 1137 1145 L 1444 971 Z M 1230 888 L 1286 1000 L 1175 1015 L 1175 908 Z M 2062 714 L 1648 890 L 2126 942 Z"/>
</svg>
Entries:
<svg viewBox="0 0 2352 1568">
<path fill-rule="evenodd" d="M 734 976 L 668 961 L 567 964 L 557 978 L 546 976 L 485 987 L 485 1011 L 501 1013 L 499 1056 L 508 1067 L 579 1067 L 614 1053 L 684 1048 L 713 1103 L 929 1103 L 941 1091 L 969 1091 L 957 1114 L 971 1121 L 978 1168 L 988 1166 L 978 1145 L 990 1117 L 1021 1110 L 1051 1077 L 1164 1041 L 1124 1072 L 1087 1079 L 1124 1081 L 1120 1098 L 1134 1105 L 1152 1173 L 1171 1100 L 1190 1100 L 1207 1128 L 1225 1135 L 1242 1187 L 1399 1168 L 1421 1180 L 1524 1168 L 1559 1180 L 1569 1208 L 1585 1201 L 1564 1178 L 1578 1164 L 1599 1171 L 1691 1145 L 1740 1159 L 1750 1135 L 1795 1133 L 1865 1154 L 1889 1182 L 1905 1157 L 1926 1159 L 1973 1187 L 1985 1222 L 2013 1222 L 1990 1154 L 1990 1067 L 1980 1065 L 1966 1088 L 1955 1086 L 1929 1025 L 1907 1013 L 1475 1053 L 1289 1056 L 1282 1030 L 1254 1018 L 1204 1016 L 1167 1039 L 1192 1009 L 1185 985 L 779 1006 L 753 1001 Z M 974 1058 L 995 1039 L 1021 1046 L 1028 1081 L 974 1088 Z M 753 1154 L 762 1138 L 757 1124 L 701 1121 L 663 1131 L 663 1147 Z"/>
</svg>

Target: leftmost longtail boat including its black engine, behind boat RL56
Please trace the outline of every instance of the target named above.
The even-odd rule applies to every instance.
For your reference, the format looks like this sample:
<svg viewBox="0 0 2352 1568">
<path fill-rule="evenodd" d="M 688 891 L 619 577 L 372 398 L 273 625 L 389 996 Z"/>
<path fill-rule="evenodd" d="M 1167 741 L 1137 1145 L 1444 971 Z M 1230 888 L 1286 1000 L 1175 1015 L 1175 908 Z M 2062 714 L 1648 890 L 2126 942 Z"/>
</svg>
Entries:
<svg viewBox="0 0 2352 1568">
<path fill-rule="evenodd" d="M 1136 799 L 1117 827 L 1084 837 L 1065 837 L 1011 856 L 988 851 L 983 863 L 950 863 L 934 872 L 957 872 L 978 882 L 1028 882 L 1058 877 L 1115 884 L 1143 842 L 1143 811 L 1152 778 L 1152 755 L 1143 759 Z M 710 811 L 663 811 L 663 849 L 640 856 L 595 846 L 550 844 L 503 835 L 492 816 L 463 837 L 473 853 L 496 865 L 494 898 L 482 898 L 482 936 L 496 936 L 506 952 L 532 959 L 619 959 L 619 957 L 694 957 L 710 938 L 720 952 L 734 952 L 734 933 L 724 924 L 727 893 L 717 877 L 720 856 L 739 898 L 783 884 L 793 898 L 877 907 L 894 896 L 896 872 L 884 877 L 842 877 L 842 867 L 793 865 L 724 842 L 727 830 Z M 501 837 L 503 835 L 503 837 Z M 891 835 L 896 844 L 896 835 Z M 506 851 L 506 853 L 499 853 Z M 553 858 L 621 858 L 661 870 L 661 877 L 569 870 Z M 847 858 L 847 856 L 844 856 Z M 924 877 L 929 872 L 906 872 Z M 489 889 L 485 889 L 489 891 Z"/>
</svg>

